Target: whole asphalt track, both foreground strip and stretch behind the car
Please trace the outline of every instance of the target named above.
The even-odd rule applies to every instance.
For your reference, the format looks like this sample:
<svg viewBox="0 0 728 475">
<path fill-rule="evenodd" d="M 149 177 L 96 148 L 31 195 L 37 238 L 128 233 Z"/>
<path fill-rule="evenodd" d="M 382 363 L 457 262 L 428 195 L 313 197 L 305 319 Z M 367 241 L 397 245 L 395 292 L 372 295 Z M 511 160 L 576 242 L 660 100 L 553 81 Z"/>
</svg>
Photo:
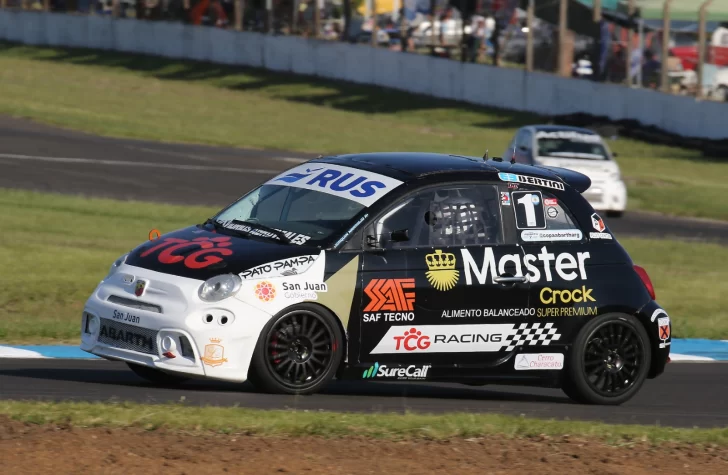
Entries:
<svg viewBox="0 0 728 475">
<path fill-rule="evenodd" d="M 241 132 L 244 133 L 244 132 Z M 222 206 L 310 156 L 101 138 L 0 117 L 0 188 L 124 200 Z M 728 224 L 629 212 L 609 220 L 618 236 L 728 244 Z M 728 426 L 728 364 L 672 363 L 620 407 L 573 404 L 559 390 L 433 383 L 333 382 L 308 397 L 271 396 L 248 385 L 144 383 L 121 363 L 0 359 L 0 399 L 178 402 L 262 409 L 498 412 L 676 427 Z"/>
</svg>

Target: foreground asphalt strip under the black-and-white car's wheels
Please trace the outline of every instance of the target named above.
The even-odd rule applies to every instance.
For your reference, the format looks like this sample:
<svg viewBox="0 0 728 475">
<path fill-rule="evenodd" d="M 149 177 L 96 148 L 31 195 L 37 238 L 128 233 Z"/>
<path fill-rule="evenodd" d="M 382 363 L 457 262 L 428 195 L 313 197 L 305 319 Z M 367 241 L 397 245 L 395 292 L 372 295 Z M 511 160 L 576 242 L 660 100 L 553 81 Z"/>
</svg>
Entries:
<svg viewBox="0 0 728 475">
<path fill-rule="evenodd" d="M 259 394 L 248 384 L 193 381 L 155 387 L 126 365 L 95 360 L 0 360 L 0 399 L 180 402 L 340 412 L 490 412 L 673 427 L 728 426 L 728 364 L 670 363 L 619 407 L 572 403 L 554 389 L 334 381 L 313 396 Z"/>
</svg>

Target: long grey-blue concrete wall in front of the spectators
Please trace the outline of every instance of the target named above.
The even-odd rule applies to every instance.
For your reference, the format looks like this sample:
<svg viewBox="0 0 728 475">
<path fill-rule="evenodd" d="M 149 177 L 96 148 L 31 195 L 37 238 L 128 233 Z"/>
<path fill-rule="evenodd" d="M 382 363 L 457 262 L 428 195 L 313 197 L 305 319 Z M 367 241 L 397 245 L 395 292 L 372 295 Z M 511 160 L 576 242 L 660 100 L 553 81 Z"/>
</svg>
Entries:
<svg viewBox="0 0 728 475">
<path fill-rule="evenodd" d="M 636 121 L 682 137 L 728 139 L 724 104 L 365 45 L 12 10 L 0 10 L 0 39 L 263 67 L 544 116 L 587 114 Z"/>
</svg>

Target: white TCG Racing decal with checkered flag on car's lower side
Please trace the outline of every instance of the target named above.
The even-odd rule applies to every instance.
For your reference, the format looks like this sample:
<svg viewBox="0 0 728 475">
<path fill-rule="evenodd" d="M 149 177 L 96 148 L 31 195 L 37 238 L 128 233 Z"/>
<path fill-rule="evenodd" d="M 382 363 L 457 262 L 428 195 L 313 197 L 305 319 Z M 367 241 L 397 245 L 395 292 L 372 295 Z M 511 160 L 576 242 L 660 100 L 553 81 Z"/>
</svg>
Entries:
<svg viewBox="0 0 728 475">
<path fill-rule="evenodd" d="M 486 353 L 548 346 L 561 338 L 554 324 L 415 325 L 390 327 L 370 354 Z"/>
</svg>

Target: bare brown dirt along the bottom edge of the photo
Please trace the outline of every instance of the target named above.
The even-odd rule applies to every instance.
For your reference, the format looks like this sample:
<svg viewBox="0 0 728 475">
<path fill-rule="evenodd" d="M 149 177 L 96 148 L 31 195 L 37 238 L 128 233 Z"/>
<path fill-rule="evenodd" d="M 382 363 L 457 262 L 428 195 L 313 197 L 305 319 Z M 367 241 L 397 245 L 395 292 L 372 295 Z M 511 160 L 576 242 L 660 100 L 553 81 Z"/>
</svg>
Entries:
<svg viewBox="0 0 728 475">
<path fill-rule="evenodd" d="M 0 417 L 0 473 L 728 473 L 728 450 L 478 438 L 391 441 L 252 437 L 31 425 Z"/>
</svg>

